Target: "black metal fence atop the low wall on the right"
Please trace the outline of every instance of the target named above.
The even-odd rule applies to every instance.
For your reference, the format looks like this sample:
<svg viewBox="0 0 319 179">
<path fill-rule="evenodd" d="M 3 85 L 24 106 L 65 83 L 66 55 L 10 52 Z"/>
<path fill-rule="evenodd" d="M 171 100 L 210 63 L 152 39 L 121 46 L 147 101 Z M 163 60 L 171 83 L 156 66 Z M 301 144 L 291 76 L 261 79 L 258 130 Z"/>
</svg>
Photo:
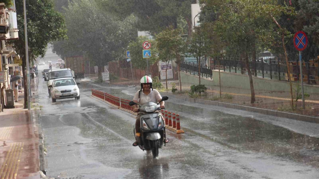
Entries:
<svg viewBox="0 0 319 179">
<path fill-rule="evenodd" d="M 219 62 L 219 63 L 218 63 Z M 269 77 L 271 79 L 276 78 L 278 80 L 286 80 L 287 64 L 286 61 L 278 61 L 276 58 L 259 58 L 249 59 L 249 68 L 255 76 Z M 308 84 L 319 84 L 319 66 L 315 62 L 302 62 L 302 75 L 300 75 L 300 62 L 288 61 L 290 77 L 292 81 L 300 81 L 302 76 L 303 80 Z M 189 74 L 198 75 L 197 62 L 186 62 L 181 64 L 182 71 L 186 71 Z M 246 62 L 243 58 L 224 57 L 210 59 L 210 66 L 201 65 L 200 72 L 202 77 L 212 78 L 212 71 L 214 69 L 220 69 L 229 71 L 231 73 L 246 74 Z"/>
</svg>

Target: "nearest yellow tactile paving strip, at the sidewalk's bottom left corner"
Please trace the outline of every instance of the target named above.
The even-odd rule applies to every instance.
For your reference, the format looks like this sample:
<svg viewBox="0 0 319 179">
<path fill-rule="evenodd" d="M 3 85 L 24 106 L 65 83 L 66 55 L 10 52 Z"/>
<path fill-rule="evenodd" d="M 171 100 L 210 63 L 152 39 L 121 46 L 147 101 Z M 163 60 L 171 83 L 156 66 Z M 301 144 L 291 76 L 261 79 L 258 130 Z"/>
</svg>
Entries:
<svg viewBox="0 0 319 179">
<path fill-rule="evenodd" d="M 23 142 L 11 143 L 10 149 L 0 167 L 0 179 L 14 179 L 17 177 Z"/>
</svg>

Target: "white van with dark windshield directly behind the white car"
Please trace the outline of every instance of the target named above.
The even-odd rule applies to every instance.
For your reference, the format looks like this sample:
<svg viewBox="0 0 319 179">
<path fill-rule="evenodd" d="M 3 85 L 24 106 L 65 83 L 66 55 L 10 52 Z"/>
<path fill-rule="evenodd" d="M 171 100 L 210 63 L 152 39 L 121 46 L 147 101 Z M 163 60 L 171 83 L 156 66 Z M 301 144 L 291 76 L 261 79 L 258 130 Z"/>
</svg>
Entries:
<svg viewBox="0 0 319 179">
<path fill-rule="evenodd" d="M 73 78 L 74 71 L 71 70 L 70 68 L 54 69 L 49 71 L 48 78 L 47 77 L 44 78 L 44 81 L 47 82 L 49 95 L 51 95 L 51 88 L 49 86 L 52 85 L 53 81 L 58 78 L 66 78 L 66 77 Z"/>
</svg>

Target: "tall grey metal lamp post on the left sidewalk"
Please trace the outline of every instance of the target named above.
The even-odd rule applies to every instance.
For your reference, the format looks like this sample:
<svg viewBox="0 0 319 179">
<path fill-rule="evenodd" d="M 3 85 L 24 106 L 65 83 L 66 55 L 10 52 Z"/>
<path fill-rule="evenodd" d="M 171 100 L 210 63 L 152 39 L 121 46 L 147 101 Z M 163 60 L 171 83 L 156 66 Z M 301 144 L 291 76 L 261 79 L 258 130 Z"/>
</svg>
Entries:
<svg viewBox="0 0 319 179">
<path fill-rule="evenodd" d="M 29 53 L 28 53 L 28 35 L 26 28 L 26 0 L 23 0 L 23 11 L 24 11 L 24 36 L 26 41 L 26 84 L 28 93 L 28 110 L 31 110 L 31 88 L 30 88 L 30 68 L 29 68 Z M 24 70 L 24 69 L 23 69 Z"/>
</svg>

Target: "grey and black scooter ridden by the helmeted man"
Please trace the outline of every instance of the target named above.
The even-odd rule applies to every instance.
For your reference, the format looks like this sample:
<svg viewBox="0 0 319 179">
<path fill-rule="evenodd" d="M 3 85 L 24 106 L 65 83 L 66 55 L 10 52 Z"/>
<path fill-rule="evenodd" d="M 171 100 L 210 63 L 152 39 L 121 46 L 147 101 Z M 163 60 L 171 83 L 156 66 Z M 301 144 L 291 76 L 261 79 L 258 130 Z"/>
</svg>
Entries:
<svg viewBox="0 0 319 179">
<path fill-rule="evenodd" d="M 167 99 L 167 96 L 163 96 L 161 102 Z M 143 114 L 140 120 L 141 132 L 136 133 L 134 128 L 134 135 L 138 146 L 143 151 L 152 151 L 153 158 L 158 157 L 159 148 L 162 147 L 163 143 L 164 146 L 166 145 L 164 142 L 166 139 L 165 120 L 161 113 L 158 112 L 160 111 L 159 103 L 147 102 L 139 105 L 130 101 L 129 105 L 138 105 L 140 113 Z"/>
</svg>

